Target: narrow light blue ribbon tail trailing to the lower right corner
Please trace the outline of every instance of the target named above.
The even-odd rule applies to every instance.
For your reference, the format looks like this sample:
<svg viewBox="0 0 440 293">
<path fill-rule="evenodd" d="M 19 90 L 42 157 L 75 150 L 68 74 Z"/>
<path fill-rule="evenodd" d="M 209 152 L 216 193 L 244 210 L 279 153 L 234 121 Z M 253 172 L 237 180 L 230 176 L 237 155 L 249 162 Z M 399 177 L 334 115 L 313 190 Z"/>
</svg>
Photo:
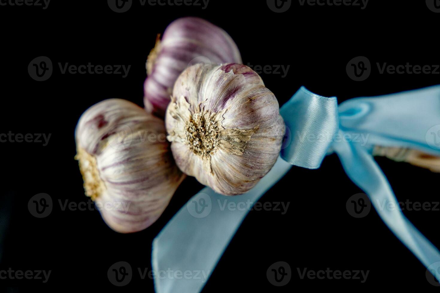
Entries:
<svg viewBox="0 0 440 293">
<path fill-rule="evenodd" d="M 388 180 L 367 149 L 356 143 L 340 142 L 334 144 L 334 151 L 348 177 L 367 193 L 389 229 L 440 281 L 439 250 L 403 215 Z M 394 208 L 386 208 L 389 203 Z"/>
</svg>

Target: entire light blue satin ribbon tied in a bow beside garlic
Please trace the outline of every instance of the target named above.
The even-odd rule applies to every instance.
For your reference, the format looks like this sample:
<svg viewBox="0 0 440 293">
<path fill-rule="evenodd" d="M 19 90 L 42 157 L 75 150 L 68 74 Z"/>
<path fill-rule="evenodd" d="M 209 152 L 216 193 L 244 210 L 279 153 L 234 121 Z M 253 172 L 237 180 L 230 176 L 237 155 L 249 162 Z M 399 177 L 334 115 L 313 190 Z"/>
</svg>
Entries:
<svg viewBox="0 0 440 293">
<path fill-rule="evenodd" d="M 291 165 L 319 168 L 324 157 L 333 152 L 348 177 L 370 197 L 385 224 L 440 281 L 436 247 L 400 209 L 382 208 L 383 203 L 398 203 L 372 156 L 375 145 L 413 148 L 440 156 L 440 143 L 436 141 L 440 136 L 440 86 L 355 98 L 339 107 L 335 97 L 325 98 L 301 87 L 280 113 L 290 144 L 282 149 L 282 159 L 271 171 L 244 195 L 225 197 L 211 188 L 202 189 L 154 239 L 156 292 L 200 292 L 249 212 L 249 208 L 238 206 L 255 203 Z M 235 209 L 227 208 L 231 203 Z"/>
</svg>

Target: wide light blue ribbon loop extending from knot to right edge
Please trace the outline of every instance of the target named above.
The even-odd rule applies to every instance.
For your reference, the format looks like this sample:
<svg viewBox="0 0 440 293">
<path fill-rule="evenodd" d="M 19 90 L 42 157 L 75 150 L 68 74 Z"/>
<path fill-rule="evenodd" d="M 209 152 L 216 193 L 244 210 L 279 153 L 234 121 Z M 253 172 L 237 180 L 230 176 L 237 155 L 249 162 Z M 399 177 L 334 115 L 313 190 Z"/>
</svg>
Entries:
<svg viewBox="0 0 440 293">
<path fill-rule="evenodd" d="M 368 135 L 370 148 L 413 148 L 440 156 L 440 86 L 350 99 L 339 106 L 339 117 L 345 132 Z"/>
</svg>

